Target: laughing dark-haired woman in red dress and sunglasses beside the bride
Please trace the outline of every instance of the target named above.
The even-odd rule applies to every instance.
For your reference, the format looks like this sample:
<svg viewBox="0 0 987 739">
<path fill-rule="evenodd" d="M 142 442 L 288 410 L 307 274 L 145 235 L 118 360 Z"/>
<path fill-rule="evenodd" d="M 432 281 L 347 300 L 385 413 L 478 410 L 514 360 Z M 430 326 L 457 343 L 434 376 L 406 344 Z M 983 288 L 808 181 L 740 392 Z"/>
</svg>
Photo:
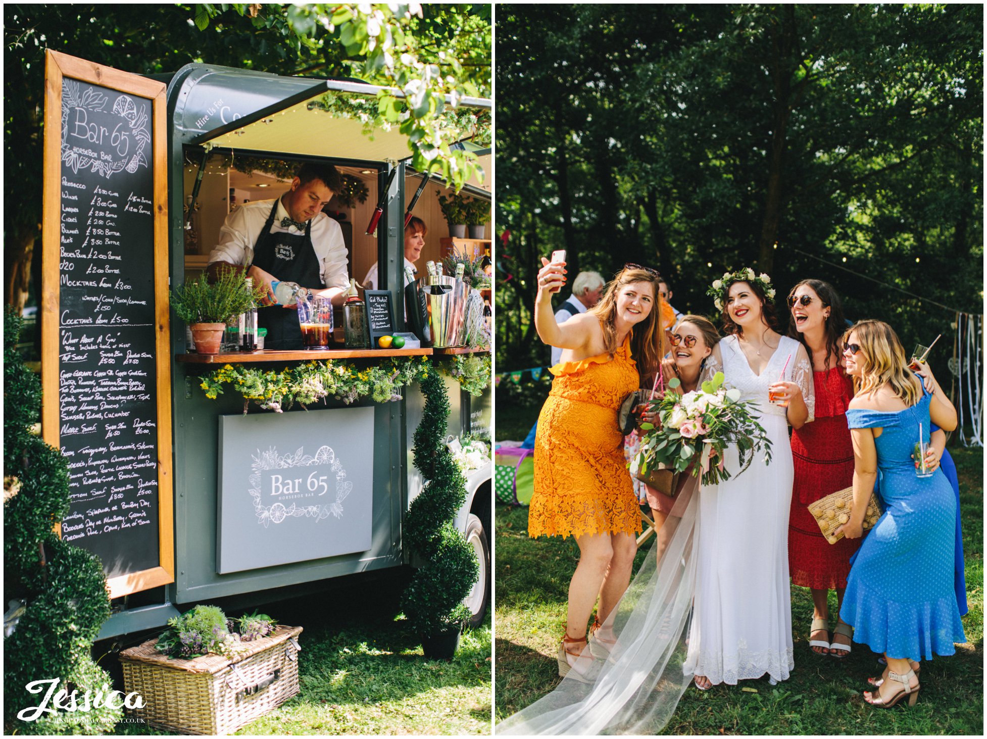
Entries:
<svg viewBox="0 0 987 739">
<path fill-rule="evenodd" d="M 860 540 L 844 538 L 833 545 L 826 542 L 808 505 L 854 481 L 854 450 L 845 415 L 854 386 L 844 370 L 837 343 L 847 324 L 839 296 L 822 280 L 799 282 L 789 293 L 789 310 L 789 335 L 805 346 L 815 385 L 815 420 L 792 432 L 795 487 L 789 517 L 789 569 L 792 582 L 812 592 L 812 651 L 843 658 L 850 653 L 853 629 L 837 615 L 830 642 L 827 599 L 829 591 L 835 590 L 839 614 L 850 557 Z"/>
</svg>

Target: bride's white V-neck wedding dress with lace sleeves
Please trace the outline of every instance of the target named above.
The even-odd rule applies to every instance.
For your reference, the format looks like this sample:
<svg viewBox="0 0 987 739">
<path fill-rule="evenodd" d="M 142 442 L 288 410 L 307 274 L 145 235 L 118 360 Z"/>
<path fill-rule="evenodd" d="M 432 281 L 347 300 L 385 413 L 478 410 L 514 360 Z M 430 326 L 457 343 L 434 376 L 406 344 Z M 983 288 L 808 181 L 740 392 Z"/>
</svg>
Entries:
<svg viewBox="0 0 987 739">
<path fill-rule="evenodd" d="M 801 389 L 811 420 L 811 365 L 802 345 L 788 336 L 782 336 L 760 375 L 751 370 L 736 336 L 726 336 L 717 348 L 725 384 L 740 391 L 741 401 L 759 406 L 772 459 L 765 465 L 758 450 L 742 475 L 704 486 L 699 494 L 695 613 L 683 669 L 714 685 L 736 685 L 765 673 L 788 680 L 795 666 L 789 583 L 794 474 L 787 408 L 768 402 L 768 386 L 784 368 L 786 379 Z M 717 360 L 711 364 L 715 372 Z M 725 466 L 739 469 L 735 447 L 727 448 Z"/>
</svg>

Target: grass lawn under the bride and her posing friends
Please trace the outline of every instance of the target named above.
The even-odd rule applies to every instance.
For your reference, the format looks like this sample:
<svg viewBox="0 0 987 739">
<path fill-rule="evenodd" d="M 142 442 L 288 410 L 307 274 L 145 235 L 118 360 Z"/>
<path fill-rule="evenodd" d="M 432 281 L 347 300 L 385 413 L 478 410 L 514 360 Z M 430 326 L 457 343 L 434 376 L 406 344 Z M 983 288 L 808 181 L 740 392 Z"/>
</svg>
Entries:
<svg viewBox="0 0 987 739">
<path fill-rule="evenodd" d="M 528 416 L 530 421 L 530 415 Z M 516 422 L 518 428 L 523 423 Z M 500 408 L 497 431 L 500 436 Z M 983 450 L 950 449 L 960 480 L 969 642 L 956 654 L 922 663 L 914 708 L 875 709 L 861 695 L 879 674 L 868 647 L 854 644 L 842 661 L 808 646 L 812 602 L 792 588 L 796 667 L 776 686 L 766 678 L 686 691 L 666 734 L 983 734 Z M 556 650 L 566 628 L 569 578 L 578 549 L 571 538 L 531 540 L 527 509 L 496 508 L 496 699 L 499 721 L 537 701 L 559 683 Z M 645 544 L 645 550 L 649 549 Z M 637 570 L 645 552 L 638 554 Z M 830 612 L 836 596 L 830 594 Z M 741 691 L 753 688 L 756 693 Z"/>
</svg>

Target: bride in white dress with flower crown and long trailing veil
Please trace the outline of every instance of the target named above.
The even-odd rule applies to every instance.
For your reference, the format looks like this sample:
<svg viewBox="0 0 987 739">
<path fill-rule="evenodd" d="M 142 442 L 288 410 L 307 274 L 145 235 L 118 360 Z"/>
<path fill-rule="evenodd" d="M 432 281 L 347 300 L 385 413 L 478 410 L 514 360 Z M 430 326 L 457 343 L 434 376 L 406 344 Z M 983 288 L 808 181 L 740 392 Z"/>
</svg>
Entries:
<svg viewBox="0 0 987 739">
<path fill-rule="evenodd" d="M 756 452 L 741 475 L 701 489 L 693 482 L 676 495 L 660 561 L 645 557 L 607 619 L 616 643 L 597 661 L 595 680 L 563 680 L 500 723 L 497 734 L 655 734 L 694 677 L 703 690 L 765 673 L 776 681 L 789 677 L 788 424 L 812 419 L 811 365 L 800 343 L 775 331 L 767 275 L 749 268 L 727 273 L 710 293 L 727 336 L 706 372 L 721 369 L 742 401 L 758 405 L 772 440 L 771 464 Z M 734 448 L 724 464 L 739 469 Z"/>
</svg>

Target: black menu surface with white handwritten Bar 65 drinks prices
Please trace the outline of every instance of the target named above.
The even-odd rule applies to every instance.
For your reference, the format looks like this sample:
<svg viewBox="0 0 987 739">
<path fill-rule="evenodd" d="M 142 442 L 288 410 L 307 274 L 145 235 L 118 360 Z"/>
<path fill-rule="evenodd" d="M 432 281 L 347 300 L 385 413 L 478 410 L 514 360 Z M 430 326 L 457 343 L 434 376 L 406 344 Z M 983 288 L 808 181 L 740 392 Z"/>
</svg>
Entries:
<svg viewBox="0 0 987 739">
<path fill-rule="evenodd" d="M 62 538 L 99 554 L 113 577 L 159 564 L 154 181 L 133 155 L 133 123 L 150 103 L 95 85 L 69 102 L 58 265 L 59 443 L 71 484 Z"/>
</svg>

